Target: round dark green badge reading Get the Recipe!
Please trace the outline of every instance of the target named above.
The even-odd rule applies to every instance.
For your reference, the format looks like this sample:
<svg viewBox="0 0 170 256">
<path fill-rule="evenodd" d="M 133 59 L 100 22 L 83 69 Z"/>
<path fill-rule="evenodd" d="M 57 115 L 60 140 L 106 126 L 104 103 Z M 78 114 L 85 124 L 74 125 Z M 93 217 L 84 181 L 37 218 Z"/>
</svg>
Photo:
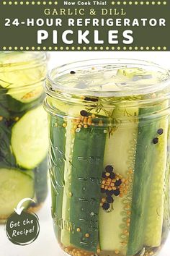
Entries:
<svg viewBox="0 0 170 256">
<path fill-rule="evenodd" d="M 35 213 L 22 211 L 12 213 L 6 221 L 6 235 L 13 244 L 27 245 L 37 239 L 40 232 L 39 219 Z"/>
</svg>

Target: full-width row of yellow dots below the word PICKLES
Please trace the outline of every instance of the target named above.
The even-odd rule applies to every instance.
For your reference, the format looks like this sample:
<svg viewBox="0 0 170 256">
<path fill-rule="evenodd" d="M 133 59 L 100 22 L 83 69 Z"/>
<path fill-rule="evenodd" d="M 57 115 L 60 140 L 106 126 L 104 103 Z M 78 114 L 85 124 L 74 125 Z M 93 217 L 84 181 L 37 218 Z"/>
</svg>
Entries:
<svg viewBox="0 0 170 256">
<path fill-rule="evenodd" d="M 0 51 L 166 51 L 166 46 L 3 46 Z"/>
</svg>

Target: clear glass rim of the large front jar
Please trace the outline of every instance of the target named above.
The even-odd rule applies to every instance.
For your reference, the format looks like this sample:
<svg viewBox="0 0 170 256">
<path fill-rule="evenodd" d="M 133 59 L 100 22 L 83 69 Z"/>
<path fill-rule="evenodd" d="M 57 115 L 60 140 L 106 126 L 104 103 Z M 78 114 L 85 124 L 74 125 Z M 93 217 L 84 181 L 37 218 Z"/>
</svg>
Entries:
<svg viewBox="0 0 170 256">
<path fill-rule="evenodd" d="M 151 67 L 153 69 L 156 69 L 156 71 L 162 72 L 166 79 L 158 82 L 154 85 L 152 85 L 150 88 L 147 88 L 149 90 L 121 90 L 121 91 L 115 91 L 115 90 L 82 90 L 79 88 L 73 88 L 69 86 L 69 80 L 66 85 L 61 85 L 57 78 L 60 77 L 62 74 L 66 74 L 71 68 L 76 70 L 79 68 L 84 67 L 99 67 L 104 65 L 117 65 L 117 67 L 122 67 L 124 65 L 125 67 Z M 68 73 L 67 73 L 68 74 Z M 56 80 L 55 80 L 56 79 Z M 55 90 L 54 90 L 55 89 Z M 168 90 L 167 90 L 168 89 Z M 71 62 L 68 64 L 64 64 L 60 67 L 55 67 L 50 72 L 48 72 L 47 80 L 45 83 L 45 91 L 53 98 L 61 98 L 60 96 L 63 95 L 70 95 L 70 97 L 74 97 L 74 95 L 88 95 L 88 96 L 97 96 L 97 97 L 123 97 L 123 96 L 135 96 L 135 95 L 145 95 L 148 93 L 157 93 L 160 91 L 164 91 L 164 97 L 169 97 L 170 95 L 170 72 L 168 69 L 165 69 L 164 67 L 161 67 L 160 65 L 146 60 L 139 60 L 139 59 L 115 59 L 115 58 L 109 58 L 109 59 L 89 59 L 89 60 L 83 60 L 83 61 L 76 61 Z M 162 94 L 162 93 L 161 93 Z M 162 95 L 161 95 L 162 98 Z M 156 98 L 158 100 L 158 98 Z"/>
</svg>

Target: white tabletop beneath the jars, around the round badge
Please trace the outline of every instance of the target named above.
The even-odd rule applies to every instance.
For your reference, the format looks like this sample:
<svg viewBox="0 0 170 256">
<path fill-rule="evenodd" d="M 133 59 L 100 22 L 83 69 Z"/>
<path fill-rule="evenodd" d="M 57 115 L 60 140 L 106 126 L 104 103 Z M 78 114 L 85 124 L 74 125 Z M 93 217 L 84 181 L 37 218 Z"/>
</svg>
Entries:
<svg viewBox="0 0 170 256">
<path fill-rule="evenodd" d="M 0 256 L 63 256 L 66 255 L 55 240 L 50 216 L 50 197 L 37 213 L 40 218 L 40 234 L 32 244 L 19 246 L 12 244 L 6 237 L 4 225 L 0 225 Z M 170 255 L 170 237 L 159 256 Z"/>
</svg>

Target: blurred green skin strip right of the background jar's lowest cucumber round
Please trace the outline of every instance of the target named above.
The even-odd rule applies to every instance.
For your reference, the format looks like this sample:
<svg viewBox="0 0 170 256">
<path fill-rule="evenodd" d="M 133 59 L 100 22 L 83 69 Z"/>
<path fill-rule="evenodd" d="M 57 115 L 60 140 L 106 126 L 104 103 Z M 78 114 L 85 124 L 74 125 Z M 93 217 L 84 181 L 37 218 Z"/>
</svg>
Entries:
<svg viewBox="0 0 170 256">
<path fill-rule="evenodd" d="M 34 170 L 35 197 L 37 204 L 44 202 L 48 195 L 48 158 L 46 157 Z"/>
</svg>

